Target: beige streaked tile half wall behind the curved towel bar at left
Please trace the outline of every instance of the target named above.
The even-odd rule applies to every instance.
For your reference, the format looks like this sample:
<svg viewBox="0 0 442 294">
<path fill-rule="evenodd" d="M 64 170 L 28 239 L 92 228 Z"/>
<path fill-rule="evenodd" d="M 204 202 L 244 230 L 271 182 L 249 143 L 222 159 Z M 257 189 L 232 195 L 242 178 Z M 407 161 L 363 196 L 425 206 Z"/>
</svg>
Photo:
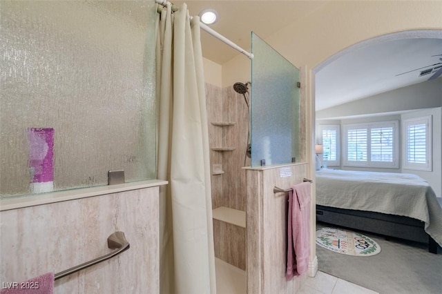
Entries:
<svg viewBox="0 0 442 294">
<path fill-rule="evenodd" d="M 124 232 L 128 251 L 55 282 L 55 293 L 159 293 L 158 187 L 5 210 L 1 282 L 58 273 L 111 252 Z"/>
</svg>

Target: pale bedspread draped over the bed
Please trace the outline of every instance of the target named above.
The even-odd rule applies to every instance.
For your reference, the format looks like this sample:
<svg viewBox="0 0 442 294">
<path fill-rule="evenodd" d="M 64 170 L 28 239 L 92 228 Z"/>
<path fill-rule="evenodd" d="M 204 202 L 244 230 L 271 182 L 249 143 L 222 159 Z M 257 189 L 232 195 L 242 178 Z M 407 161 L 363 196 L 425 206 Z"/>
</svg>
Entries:
<svg viewBox="0 0 442 294">
<path fill-rule="evenodd" d="M 419 219 L 442 246 L 442 208 L 431 186 L 417 175 L 317 170 L 316 204 Z"/>
</svg>

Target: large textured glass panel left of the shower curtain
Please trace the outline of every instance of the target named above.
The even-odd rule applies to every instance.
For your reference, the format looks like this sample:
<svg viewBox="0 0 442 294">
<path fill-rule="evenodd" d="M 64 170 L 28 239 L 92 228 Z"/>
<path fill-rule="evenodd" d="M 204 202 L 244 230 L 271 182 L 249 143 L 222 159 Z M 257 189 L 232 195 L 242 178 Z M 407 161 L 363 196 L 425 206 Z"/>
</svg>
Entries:
<svg viewBox="0 0 442 294">
<path fill-rule="evenodd" d="M 108 170 L 155 178 L 155 14 L 155 1 L 1 1 L 1 197 L 106 185 Z"/>
</svg>

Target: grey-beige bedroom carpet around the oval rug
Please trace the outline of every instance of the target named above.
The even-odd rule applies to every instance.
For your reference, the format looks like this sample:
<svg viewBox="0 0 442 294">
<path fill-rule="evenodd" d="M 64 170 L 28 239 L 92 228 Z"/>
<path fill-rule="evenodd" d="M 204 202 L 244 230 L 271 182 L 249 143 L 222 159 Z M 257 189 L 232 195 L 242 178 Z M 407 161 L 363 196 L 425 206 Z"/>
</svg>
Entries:
<svg viewBox="0 0 442 294">
<path fill-rule="evenodd" d="M 317 228 L 321 227 L 335 226 L 318 223 Z M 356 257 L 316 245 L 319 271 L 381 294 L 442 293 L 441 254 L 429 253 L 425 244 L 359 233 L 378 242 L 381 253 Z"/>
</svg>

